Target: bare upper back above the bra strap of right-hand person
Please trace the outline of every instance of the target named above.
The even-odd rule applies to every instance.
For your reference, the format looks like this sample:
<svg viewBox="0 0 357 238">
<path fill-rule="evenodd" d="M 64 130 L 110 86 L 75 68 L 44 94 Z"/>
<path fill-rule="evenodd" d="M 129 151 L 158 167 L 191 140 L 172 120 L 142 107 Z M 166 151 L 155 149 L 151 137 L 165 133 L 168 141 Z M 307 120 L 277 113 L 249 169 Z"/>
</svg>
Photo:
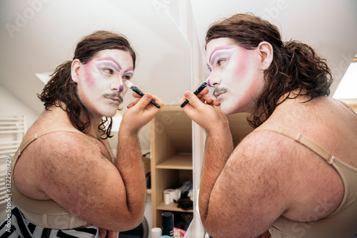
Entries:
<svg viewBox="0 0 357 238">
<path fill-rule="evenodd" d="M 269 123 L 278 123 L 357 167 L 357 117 L 337 100 L 318 97 L 311 101 L 286 100 L 274 110 Z"/>
</svg>

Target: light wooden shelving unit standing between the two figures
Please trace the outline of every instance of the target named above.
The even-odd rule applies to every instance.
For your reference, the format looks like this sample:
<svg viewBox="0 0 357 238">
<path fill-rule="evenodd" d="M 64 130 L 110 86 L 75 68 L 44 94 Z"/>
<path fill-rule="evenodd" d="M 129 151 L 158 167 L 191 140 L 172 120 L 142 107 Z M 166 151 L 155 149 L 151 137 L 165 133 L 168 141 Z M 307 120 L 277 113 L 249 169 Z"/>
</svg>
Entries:
<svg viewBox="0 0 357 238">
<path fill-rule="evenodd" d="M 163 212 L 193 212 L 164 204 L 164 190 L 192 179 L 192 121 L 179 105 L 164 105 L 150 130 L 152 225 L 161 227 Z"/>
</svg>

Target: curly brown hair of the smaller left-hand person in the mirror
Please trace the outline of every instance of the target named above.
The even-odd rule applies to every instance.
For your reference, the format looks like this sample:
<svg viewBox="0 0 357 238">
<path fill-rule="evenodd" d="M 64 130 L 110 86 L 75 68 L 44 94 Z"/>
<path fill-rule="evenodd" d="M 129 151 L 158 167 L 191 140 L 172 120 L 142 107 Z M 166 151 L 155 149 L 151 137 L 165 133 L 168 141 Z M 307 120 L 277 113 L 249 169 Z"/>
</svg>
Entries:
<svg viewBox="0 0 357 238">
<path fill-rule="evenodd" d="M 131 48 L 129 41 L 120 33 L 111 31 L 95 31 L 79 41 L 74 51 L 74 59 L 79 59 L 81 63 L 88 63 L 99 51 L 106 49 L 119 49 L 129 51 L 133 58 L 135 68 L 136 53 Z M 77 95 L 77 84 L 71 78 L 71 63 L 65 61 L 56 68 L 51 74 L 50 81 L 44 86 L 41 95 L 37 95 L 44 103 L 46 110 L 51 105 L 64 109 L 71 120 L 72 125 L 81 132 L 86 133 L 89 130 L 89 113 L 88 110 L 79 100 Z M 108 123 L 108 128 L 104 124 Z M 111 138 L 111 118 L 103 118 L 98 127 L 99 133 L 103 139 Z"/>
</svg>

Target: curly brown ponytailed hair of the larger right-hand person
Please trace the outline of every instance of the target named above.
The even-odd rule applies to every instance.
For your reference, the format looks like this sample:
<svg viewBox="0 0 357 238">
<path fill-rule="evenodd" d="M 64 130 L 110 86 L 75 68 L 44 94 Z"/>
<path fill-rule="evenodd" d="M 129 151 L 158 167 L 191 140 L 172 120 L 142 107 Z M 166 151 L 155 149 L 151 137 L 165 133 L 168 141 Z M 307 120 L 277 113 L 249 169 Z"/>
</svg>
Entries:
<svg viewBox="0 0 357 238">
<path fill-rule="evenodd" d="M 287 98 L 307 95 L 307 101 L 330 94 L 333 82 L 326 59 L 319 57 L 310 46 L 300 41 L 281 41 L 273 24 L 253 14 L 236 14 L 213 23 L 206 34 L 206 45 L 216 38 L 230 38 L 238 46 L 252 50 L 262 41 L 273 47 L 273 61 L 264 71 L 266 86 L 256 100 L 247 120 L 257 128 L 268 119 L 276 106 Z M 291 97 L 291 92 L 297 95 Z M 282 98 L 286 95 L 285 98 Z"/>
</svg>

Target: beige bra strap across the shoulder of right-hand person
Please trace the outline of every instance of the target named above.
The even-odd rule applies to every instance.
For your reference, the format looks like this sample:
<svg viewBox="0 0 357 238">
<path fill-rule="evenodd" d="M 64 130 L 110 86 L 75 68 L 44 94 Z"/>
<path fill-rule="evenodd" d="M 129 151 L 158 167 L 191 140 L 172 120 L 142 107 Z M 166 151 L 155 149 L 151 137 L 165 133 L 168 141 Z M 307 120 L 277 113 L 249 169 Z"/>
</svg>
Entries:
<svg viewBox="0 0 357 238">
<path fill-rule="evenodd" d="M 313 140 L 306 138 L 305 136 L 301 135 L 301 133 L 296 133 L 294 131 L 283 128 L 279 125 L 273 125 L 273 124 L 261 125 L 258 128 L 256 128 L 256 130 L 254 130 L 254 131 L 257 131 L 257 130 L 271 130 L 271 131 L 274 131 L 281 135 L 286 135 L 288 138 L 291 138 L 291 139 L 295 140 L 296 142 L 301 143 L 301 145 L 306 146 L 306 148 L 312 150 L 317 155 L 323 157 L 323 159 L 326 160 L 329 164 L 331 164 L 333 162 L 333 159 L 335 158 L 327 150 L 322 148 L 320 145 L 315 143 Z"/>
</svg>

